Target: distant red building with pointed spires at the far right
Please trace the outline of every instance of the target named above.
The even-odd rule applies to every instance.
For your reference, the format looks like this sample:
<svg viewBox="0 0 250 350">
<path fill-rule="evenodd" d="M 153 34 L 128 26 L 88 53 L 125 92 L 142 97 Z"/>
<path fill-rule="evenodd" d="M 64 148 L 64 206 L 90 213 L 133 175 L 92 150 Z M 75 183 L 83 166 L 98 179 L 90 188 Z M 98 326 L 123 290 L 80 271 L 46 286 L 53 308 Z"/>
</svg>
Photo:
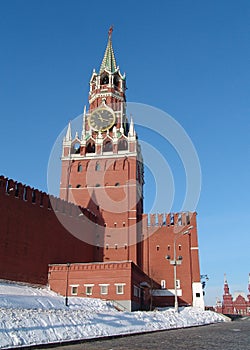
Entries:
<svg viewBox="0 0 250 350">
<path fill-rule="evenodd" d="M 250 274 L 248 276 L 248 295 L 244 292 L 229 293 L 229 286 L 225 275 L 223 301 L 217 301 L 215 310 L 225 315 L 250 316 Z"/>
</svg>

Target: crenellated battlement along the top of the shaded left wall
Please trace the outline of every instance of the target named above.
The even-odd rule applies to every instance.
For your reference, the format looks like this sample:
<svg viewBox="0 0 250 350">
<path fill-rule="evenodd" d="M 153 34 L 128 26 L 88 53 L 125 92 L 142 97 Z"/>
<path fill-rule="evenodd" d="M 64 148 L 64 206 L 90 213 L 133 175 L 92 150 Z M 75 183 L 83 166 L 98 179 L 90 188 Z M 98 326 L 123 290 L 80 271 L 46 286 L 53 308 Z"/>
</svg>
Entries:
<svg viewBox="0 0 250 350">
<path fill-rule="evenodd" d="M 9 179 L 3 175 L 0 176 L 0 196 L 1 195 L 30 203 L 43 210 L 54 210 L 54 212 L 60 212 L 76 218 L 79 218 L 80 210 L 85 217 L 93 222 L 97 222 L 97 216 L 88 208 L 83 208 L 73 203 L 68 203 L 63 199 L 24 185 L 21 182 L 14 181 L 13 179 Z"/>
</svg>

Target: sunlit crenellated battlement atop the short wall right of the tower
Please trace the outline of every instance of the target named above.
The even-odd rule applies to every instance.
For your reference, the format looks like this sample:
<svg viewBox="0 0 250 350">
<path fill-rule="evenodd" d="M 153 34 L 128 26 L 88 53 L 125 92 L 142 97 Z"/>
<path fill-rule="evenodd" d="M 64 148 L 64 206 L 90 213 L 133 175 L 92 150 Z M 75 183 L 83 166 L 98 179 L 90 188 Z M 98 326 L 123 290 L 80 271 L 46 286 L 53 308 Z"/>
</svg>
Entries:
<svg viewBox="0 0 250 350">
<path fill-rule="evenodd" d="M 155 226 L 187 226 L 191 225 L 192 217 L 196 217 L 196 212 L 164 213 L 164 214 L 144 214 L 144 222 L 148 227 Z"/>
</svg>

